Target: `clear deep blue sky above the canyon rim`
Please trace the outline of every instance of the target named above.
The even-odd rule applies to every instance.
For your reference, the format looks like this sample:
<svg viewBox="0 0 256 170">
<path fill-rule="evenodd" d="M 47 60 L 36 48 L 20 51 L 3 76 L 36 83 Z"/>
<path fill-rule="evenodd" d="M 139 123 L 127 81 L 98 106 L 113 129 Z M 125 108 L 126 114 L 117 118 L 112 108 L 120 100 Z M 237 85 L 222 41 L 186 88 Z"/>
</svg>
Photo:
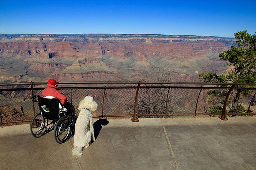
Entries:
<svg viewBox="0 0 256 170">
<path fill-rule="evenodd" d="M 0 34 L 256 32 L 256 0 L 0 0 Z"/>
</svg>

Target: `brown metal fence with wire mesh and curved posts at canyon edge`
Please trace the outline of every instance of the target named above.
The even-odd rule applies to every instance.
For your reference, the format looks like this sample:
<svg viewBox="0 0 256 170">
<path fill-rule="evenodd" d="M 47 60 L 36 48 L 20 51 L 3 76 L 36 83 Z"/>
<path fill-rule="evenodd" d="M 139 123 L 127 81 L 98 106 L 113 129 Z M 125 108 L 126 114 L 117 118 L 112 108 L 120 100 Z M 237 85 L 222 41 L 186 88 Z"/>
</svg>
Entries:
<svg viewBox="0 0 256 170">
<path fill-rule="evenodd" d="M 139 81 L 60 82 L 60 85 L 75 108 L 85 96 L 92 96 L 98 103 L 93 117 L 131 117 L 136 122 L 138 117 L 220 115 L 227 120 L 227 115 L 256 115 L 256 84 Z M 39 112 L 37 98 L 33 96 L 42 94 L 45 82 L 0 86 L 1 125 L 29 122 Z M 234 110 L 238 92 L 239 109 Z"/>
</svg>

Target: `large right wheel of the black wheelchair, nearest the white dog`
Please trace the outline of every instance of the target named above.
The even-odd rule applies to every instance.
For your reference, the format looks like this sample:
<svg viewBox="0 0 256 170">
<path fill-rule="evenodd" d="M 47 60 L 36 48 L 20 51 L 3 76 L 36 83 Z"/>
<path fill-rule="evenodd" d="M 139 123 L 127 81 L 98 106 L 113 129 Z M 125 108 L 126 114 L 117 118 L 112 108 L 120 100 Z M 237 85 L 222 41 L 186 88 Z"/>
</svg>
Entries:
<svg viewBox="0 0 256 170">
<path fill-rule="evenodd" d="M 71 132 L 70 123 L 67 117 L 61 117 L 54 128 L 54 139 L 57 143 L 64 143 L 68 140 L 68 136 Z"/>
</svg>

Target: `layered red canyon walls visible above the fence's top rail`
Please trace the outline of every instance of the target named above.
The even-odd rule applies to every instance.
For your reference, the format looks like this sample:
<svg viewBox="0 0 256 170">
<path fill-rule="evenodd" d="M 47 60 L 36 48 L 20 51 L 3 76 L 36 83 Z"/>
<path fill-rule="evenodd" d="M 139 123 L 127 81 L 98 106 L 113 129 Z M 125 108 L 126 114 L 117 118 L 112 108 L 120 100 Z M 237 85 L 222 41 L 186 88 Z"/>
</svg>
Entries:
<svg viewBox="0 0 256 170">
<path fill-rule="evenodd" d="M 147 34 L 0 35 L 0 83 L 57 81 L 197 82 L 227 70 L 219 53 L 234 38 Z"/>
</svg>

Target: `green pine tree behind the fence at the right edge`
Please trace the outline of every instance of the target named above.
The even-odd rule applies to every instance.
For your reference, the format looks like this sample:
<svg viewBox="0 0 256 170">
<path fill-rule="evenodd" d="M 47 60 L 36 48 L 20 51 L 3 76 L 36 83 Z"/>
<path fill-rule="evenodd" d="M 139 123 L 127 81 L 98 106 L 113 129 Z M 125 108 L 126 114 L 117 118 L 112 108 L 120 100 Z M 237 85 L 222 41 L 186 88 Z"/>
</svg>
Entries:
<svg viewBox="0 0 256 170">
<path fill-rule="evenodd" d="M 219 59 L 228 61 L 230 71 L 227 74 L 217 75 L 215 73 L 199 74 L 199 79 L 204 82 L 216 83 L 256 83 L 256 33 L 250 35 L 247 30 L 239 31 L 234 34 L 237 45 L 231 46 L 230 50 L 223 51 L 219 54 Z M 218 85 L 224 87 L 226 85 Z M 240 86 L 242 87 L 242 86 Z M 226 96 L 226 90 L 209 90 L 213 104 L 223 103 Z M 245 108 L 239 103 L 240 95 L 249 94 L 248 90 L 236 90 L 233 101 L 230 101 L 230 113 L 245 112 Z M 220 113 L 221 107 L 218 105 L 210 107 L 211 112 Z"/>
</svg>

